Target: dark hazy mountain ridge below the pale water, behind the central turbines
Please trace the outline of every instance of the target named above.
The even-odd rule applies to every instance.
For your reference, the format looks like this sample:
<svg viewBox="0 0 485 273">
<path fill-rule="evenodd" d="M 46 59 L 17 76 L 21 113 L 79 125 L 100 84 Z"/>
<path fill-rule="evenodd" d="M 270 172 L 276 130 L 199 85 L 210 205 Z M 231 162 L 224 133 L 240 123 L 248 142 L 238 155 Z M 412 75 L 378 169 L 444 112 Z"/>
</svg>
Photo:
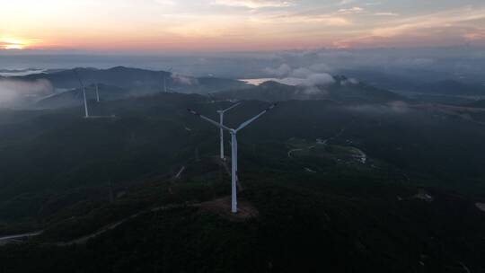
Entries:
<svg viewBox="0 0 485 273">
<path fill-rule="evenodd" d="M 244 90 L 217 93 L 218 97 L 237 100 L 288 101 L 288 100 L 335 100 L 357 102 L 406 101 L 394 92 L 376 88 L 369 84 L 335 76 L 333 84 L 315 86 L 292 86 L 266 82 Z"/>
</svg>

